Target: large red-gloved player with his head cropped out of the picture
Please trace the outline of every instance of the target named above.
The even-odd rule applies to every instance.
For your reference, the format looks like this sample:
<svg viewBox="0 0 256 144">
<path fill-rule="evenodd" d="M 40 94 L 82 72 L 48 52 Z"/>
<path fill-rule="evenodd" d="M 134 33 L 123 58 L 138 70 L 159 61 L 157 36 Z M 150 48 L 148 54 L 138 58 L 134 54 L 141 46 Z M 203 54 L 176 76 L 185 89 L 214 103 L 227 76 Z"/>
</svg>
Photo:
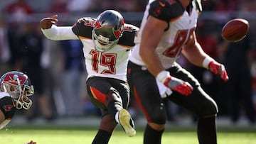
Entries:
<svg viewBox="0 0 256 144">
<path fill-rule="evenodd" d="M 178 65 L 182 53 L 198 67 L 228 80 L 225 67 L 203 52 L 196 41 L 199 0 L 149 0 L 128 62 L 128 82 L 147 118 L 144 144 L 160 144 L 166 123 L 163 98 L 183 106 L 198 117 L 200 144 L 216 144 L 218 106 L 198 80 Z"/>
</svg>

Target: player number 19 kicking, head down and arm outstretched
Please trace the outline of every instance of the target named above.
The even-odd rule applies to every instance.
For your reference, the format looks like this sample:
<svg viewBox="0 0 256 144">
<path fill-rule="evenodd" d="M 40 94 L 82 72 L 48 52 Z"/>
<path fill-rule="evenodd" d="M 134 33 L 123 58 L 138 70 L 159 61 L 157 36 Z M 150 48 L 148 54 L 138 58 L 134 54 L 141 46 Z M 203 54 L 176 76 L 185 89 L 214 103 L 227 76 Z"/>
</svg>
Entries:
<svg viewBox="0 0 256 144">
<path fill-rule="evenodd" d="M 100 128 L 92 143 L 108 143 L 117 123 L 128 136 L 134 136 L 134 122 L 126 110 L 127 62 L 139 28 L 124 23 L 122 15 L 114 10 L 103 11 L 97 18 L 80 18 L 73 26 L 56 26 L 57 21 L 57 15 L 43 18 L 43 34 L 50 40 L 82 42 L 89 98 L 102 110 Z"/>
</svg>

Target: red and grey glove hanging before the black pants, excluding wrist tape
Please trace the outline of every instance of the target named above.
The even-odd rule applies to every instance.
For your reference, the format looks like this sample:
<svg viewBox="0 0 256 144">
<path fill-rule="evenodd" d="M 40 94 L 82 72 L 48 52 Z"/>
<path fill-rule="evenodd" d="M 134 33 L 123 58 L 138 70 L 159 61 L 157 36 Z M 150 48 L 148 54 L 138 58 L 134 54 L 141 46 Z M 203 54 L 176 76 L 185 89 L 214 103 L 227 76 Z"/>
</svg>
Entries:
<svg viewBox="0 0 256 144">
<path fill-rule="evenodd" d="M 164 81 L 164 85 L 185 96 L 188 96 L 193 91 L 191 84 L 184 82 L 181 79 L 177 79 L 176 77 L 167 77 Z"/>
</svg>

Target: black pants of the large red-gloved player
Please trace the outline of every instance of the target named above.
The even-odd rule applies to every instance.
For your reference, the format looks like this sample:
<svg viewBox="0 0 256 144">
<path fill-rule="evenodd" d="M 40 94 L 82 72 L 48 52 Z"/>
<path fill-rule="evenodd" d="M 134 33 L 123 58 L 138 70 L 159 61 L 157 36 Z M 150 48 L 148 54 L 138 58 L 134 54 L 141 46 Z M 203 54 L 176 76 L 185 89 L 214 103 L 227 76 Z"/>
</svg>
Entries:
<svg viewBox="0 0 256 144">
<path fill-rule="evenodd" d="M 166 108 L 159 94 L 155 77 L 145 67 L 135 65 L 130 61 L 127 67 L 127 79 L 131 92 L 137 98 L 147 121 L 159 124 L 166 123 Z M 188 109 L 198 118 L 218 113 L 218 106 L 215 104 L 215 101 L 203 91 L 198 80 L 191 73 L 178 64 L 169 68 L 168 71 L 172 77 L 183 79 L 183 81 L 191 84 L 193 92 L 188 96 L 173 92 L 166 99 Z"/>
</svg>

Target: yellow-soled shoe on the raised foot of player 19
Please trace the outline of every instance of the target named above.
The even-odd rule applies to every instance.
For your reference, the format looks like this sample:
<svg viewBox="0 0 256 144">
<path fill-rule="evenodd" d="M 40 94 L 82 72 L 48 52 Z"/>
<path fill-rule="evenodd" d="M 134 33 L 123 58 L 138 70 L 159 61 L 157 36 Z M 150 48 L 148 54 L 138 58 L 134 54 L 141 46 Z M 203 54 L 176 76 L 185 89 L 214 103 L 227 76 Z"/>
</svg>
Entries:
<svg viewBox="0 0 256 144">
<path fill-rule="evenodd" d="M 134 121 L 126 109 L 119 111 L 119 123 L 128 136 L 132 137 L 136 134 Z"/>
</svg>

